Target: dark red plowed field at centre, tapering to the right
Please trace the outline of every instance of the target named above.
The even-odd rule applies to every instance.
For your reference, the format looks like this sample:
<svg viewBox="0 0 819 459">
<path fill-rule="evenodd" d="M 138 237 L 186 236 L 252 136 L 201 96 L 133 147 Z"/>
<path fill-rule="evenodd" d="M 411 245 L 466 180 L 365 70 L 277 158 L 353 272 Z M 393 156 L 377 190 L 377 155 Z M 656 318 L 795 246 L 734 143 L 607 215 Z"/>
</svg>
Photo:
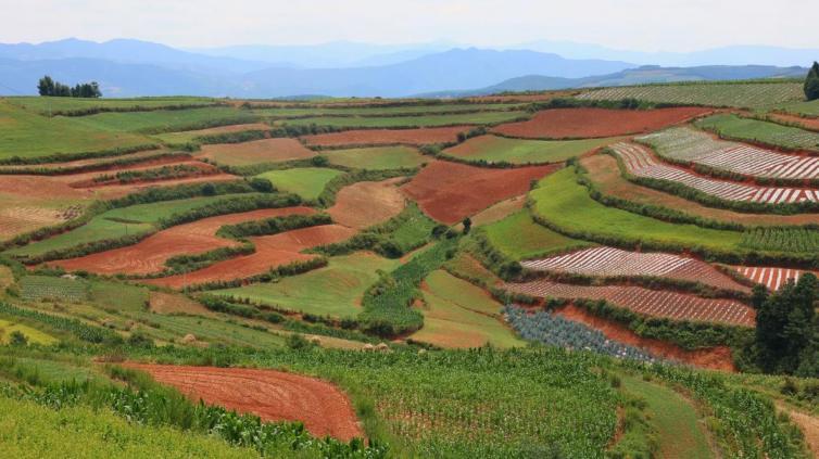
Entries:
<svg viewBox="0 0 819 459">
<path fill-rule="evenodd" d="M 494 203 L 526 193 L 532 180 L 559 167 L 490 169 L 436 161 L 401 190 L 415 200 L 427 215 L 453 225 Z"/>
</svg>

